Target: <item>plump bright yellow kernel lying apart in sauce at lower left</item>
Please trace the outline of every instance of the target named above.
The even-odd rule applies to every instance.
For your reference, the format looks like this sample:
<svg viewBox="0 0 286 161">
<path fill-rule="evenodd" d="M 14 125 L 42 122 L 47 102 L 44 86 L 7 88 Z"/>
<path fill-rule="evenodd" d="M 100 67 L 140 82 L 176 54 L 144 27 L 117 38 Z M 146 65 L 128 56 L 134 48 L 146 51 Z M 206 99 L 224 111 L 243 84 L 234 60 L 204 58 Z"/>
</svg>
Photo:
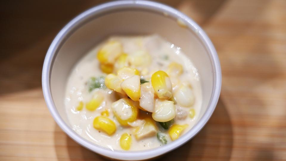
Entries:
<svg viewBox="0 0 286 161">
<path fill-rule="evenodd" d="M 94 118 L 93 127 L 97 130 L 102 130 L 108 135 L 116 131 L 115 123 L 106 116 L 97 116 Z"/>
</svg>

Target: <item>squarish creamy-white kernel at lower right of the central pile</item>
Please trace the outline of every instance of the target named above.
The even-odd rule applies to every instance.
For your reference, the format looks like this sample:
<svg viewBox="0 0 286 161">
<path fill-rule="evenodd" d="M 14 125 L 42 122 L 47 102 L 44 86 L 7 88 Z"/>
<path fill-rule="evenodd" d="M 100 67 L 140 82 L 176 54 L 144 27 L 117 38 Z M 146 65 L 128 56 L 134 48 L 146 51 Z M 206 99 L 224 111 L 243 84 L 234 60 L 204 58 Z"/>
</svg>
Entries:
<svg viewBox="0 0 286 161">
<path fill-rule="evenodd" d="M 152 117 L 158 122 L 167 122 L 175 118 L 176 108 L 173 101 L 156 99 Z"/>
</svg>

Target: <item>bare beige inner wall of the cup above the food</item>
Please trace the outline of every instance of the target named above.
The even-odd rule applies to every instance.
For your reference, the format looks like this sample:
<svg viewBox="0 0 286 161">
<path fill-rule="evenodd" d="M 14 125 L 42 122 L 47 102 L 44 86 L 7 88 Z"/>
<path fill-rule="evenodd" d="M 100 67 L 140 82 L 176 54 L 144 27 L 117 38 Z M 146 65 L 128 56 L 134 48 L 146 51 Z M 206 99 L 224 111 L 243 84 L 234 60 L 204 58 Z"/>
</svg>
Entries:
<svg viewBox="0 0 286 161">
<path fill-rule="evenodd" d="M 177 19 L 166 13 L 142 8 L 109 9 L 86 16 L 66 33 L 52 59 L 50 90 L 57 112 L 64 122 L 67 119 L 64 97 L 66 82 L 73 66 L 97 43 L 111 35 L 158 34 L 182 48 L 198 69 L 202 86 L 202 109 L 208 108 L 214 90 L 214 62 L 210 51 L 197 36 L 198 30 L 181 27 Z M 198 123 L 197 122 L 197 123 Z M 134 158 L 133 158 L 134 159 Z"/>
</svg>

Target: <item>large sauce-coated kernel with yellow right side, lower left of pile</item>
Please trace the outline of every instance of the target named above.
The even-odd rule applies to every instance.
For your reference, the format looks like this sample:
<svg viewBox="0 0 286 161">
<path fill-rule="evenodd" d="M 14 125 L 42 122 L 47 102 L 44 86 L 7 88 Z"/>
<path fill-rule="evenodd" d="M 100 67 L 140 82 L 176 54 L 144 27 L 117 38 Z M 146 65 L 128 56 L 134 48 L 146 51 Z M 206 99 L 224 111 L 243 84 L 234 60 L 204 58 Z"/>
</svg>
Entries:
<svg viewBox="0 0 286 161">
<path fill-rule="evenodd" d="M 121 98 L 111 105 L 112 112 L 118 122 L 123 126 L 128 126 L 128 122 L 133 122 L 138 116 L 138 102 L 129 98 Z"/>
</svg>

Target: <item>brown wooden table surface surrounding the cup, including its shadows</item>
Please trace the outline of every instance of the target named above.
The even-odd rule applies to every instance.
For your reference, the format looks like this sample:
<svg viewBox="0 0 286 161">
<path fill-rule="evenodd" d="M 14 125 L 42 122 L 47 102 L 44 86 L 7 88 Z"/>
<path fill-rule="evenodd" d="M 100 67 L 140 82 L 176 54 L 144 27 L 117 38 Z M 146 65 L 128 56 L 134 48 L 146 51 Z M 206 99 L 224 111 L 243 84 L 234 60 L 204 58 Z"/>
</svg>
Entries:
<svg viewBox="0 0 286 161">
<path fill-rule="evenodd" d="M 54 36 L 100 2 L 1 2 L 0 160 L 104 160 L 61 131 L 41 89 Z M 286 160 L 286 1 L 163 2 L 210 36 L 223 83 L 203 130 L 161 160 Z"/>
</svg>

